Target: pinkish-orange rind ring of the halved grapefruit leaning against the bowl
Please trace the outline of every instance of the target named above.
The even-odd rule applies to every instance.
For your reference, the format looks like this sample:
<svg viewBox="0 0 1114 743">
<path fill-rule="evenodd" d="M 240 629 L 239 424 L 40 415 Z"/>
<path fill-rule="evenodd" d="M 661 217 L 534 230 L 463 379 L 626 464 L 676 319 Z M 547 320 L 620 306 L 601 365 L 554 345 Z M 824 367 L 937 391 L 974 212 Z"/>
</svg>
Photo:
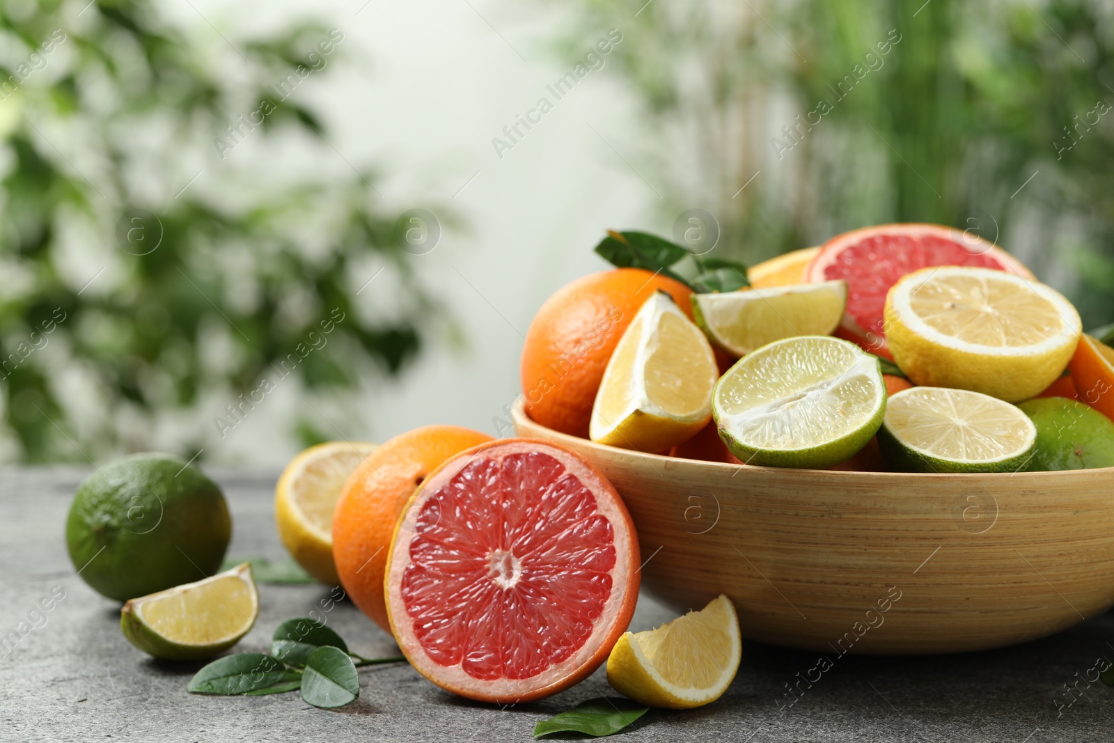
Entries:
<svg viewBox="0 0 1114 743">
<path fill-rule="evenodd" d="M 479 680 L 461 667 L 434 662 L 427 653 L 407 612 L 401 588 L 410 564 L 410 545 L 421 531 L 419 516 L 412 525 L 400 525 L 388 554 L 383 593 L 391 633 L 399 648 L 418 673 L 444 691 L 479 702 L 520 703 L 556 694 L 592 675 L 606 659 L 612 647 L 626 630 L 634 614 L 639 585 L 639 550 L 631 515 L 622 498 L 607 479 L 586 460 L 568 450 L 537 439 L 501 439 L 479 444 L 446 461 L 431 472 L 410 500 L 409 514 L 422 514 L 426 502 L 469 463 L 481 458 L 499 458 L 521 452 L 541 451 L 554 457 L 584 483 L 596 498 L 597 512 L 610 524 L 614 535 L 615 565 L 610 571 L 612 589 L 592 633 L 574 654 L 545 671 L 524 680 Z"/>
</svg>

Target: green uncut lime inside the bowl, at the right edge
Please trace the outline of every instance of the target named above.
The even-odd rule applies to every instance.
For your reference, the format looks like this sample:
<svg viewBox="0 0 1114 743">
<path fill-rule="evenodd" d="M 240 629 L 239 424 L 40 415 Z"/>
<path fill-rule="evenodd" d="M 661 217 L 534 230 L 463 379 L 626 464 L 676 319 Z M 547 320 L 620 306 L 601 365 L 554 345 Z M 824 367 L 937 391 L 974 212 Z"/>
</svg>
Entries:
<svg viewBox="0 0 1114 743">
<path fill-rule="evenodd" d="M 1018 408 L 1037 427 L 1029 470 L 1114 467 L 1114 422 L 1094 408 L 1067 398 L 1036 398 Z"/>
</svg>

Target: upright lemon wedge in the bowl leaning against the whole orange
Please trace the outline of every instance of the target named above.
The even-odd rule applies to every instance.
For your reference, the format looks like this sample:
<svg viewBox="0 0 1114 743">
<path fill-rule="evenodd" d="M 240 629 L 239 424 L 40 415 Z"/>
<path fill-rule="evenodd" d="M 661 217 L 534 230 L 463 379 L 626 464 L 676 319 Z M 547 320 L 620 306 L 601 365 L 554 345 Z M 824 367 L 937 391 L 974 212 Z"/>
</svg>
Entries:
<svg viewBox="0 0 1114 743">
<path fill-rule="evenodd" d="M 720 378 L 707 339 L 665 292 L 655 292 L 623 333 L 592 409 L 593 441 L 661 451 L 712 420 Z"/>
</svg>

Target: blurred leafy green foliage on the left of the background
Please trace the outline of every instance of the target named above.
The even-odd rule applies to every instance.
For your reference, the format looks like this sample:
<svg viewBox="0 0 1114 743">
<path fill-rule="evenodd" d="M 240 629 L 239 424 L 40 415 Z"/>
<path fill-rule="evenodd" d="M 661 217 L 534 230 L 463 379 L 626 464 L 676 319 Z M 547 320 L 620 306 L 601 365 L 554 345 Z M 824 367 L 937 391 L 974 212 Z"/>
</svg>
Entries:
<svg viewBox="0 0 1114 743">
<path fill-rule="evenodd" d="M 4 458 L 85 462 L 156 439 L 219 457 L 215 417 L 277 383 L 289 354 L 283 383 L 329 391 L 418 352 L 439 305 L 393 215 L 282 87 L 299 66 L 328 75 L 335 30 L 299 19 L 215 52 L 146 0 L 42 0 L 0 4 L 0 35 Z M 238 124 L 268 101 L 255 130 Z M 253 170 L 218 144 L 247 139 L 341 165 Z M 402 300 L 369 316 L 356 294 L 380 268 L 371 286 Z M 340 316 L 328 351 L 299 351 Z M 312 410 L 289 424 L 340 436 Z"/>
</svg>

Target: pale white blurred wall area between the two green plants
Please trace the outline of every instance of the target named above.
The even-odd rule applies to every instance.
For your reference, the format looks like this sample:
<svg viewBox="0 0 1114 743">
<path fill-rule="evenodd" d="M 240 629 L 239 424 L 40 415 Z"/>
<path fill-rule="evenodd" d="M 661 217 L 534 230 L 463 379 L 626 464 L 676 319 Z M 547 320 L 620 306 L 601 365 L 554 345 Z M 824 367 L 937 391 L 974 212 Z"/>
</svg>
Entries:
<svg viewBox="0 0 1114 743">
<path fill-rule="evenodd" d="M 166 12 L 212 37 L 222 55 L 229 42 L 311 14 L 290 1 L 192 3 L 168 1 Z M 496 155 L 492 137 L 539 97 L 554 100 L 546 85 L 571 67 L 554 47 L 559 12 L 504 0 L 314 3 L 312 17 L 345 37 L 343 53 L 330 62 L 336 68 L 311 76 L 294 94 L 321 114 L 340 153 L 320 167 L 379 165 L 385 206 L 436 213 L 448 205 L 466 223 L 411 258 L 451 309 L 466 346 L 427 346 L 402 380 L 374 380 L 355 410 L 351 401 L 319 401 L 345 437 L 383 441 L 437 422 L 496 434 L 492 418 L 519 392 L 522 335 L 538 306 L 565 283 L 606 267 L 592 253 L 606 228 L 668 232 L 671 223 L 654 216 L 657 194 L 632 168 L 636 107 L 610 65 L 555 101 L 502 159 Z M 585 38 L 583 51 L 607 30 Z M 240 156 L 267 154 L 237 148 L 229 158 Z M 389 276 L 377 282 L 361 299 L 389 303 Z M 304 403 L 295 390 L 274 398 L 206 456 L 285 461 L 295 447 L 275 423 Z"/>
</svg>

